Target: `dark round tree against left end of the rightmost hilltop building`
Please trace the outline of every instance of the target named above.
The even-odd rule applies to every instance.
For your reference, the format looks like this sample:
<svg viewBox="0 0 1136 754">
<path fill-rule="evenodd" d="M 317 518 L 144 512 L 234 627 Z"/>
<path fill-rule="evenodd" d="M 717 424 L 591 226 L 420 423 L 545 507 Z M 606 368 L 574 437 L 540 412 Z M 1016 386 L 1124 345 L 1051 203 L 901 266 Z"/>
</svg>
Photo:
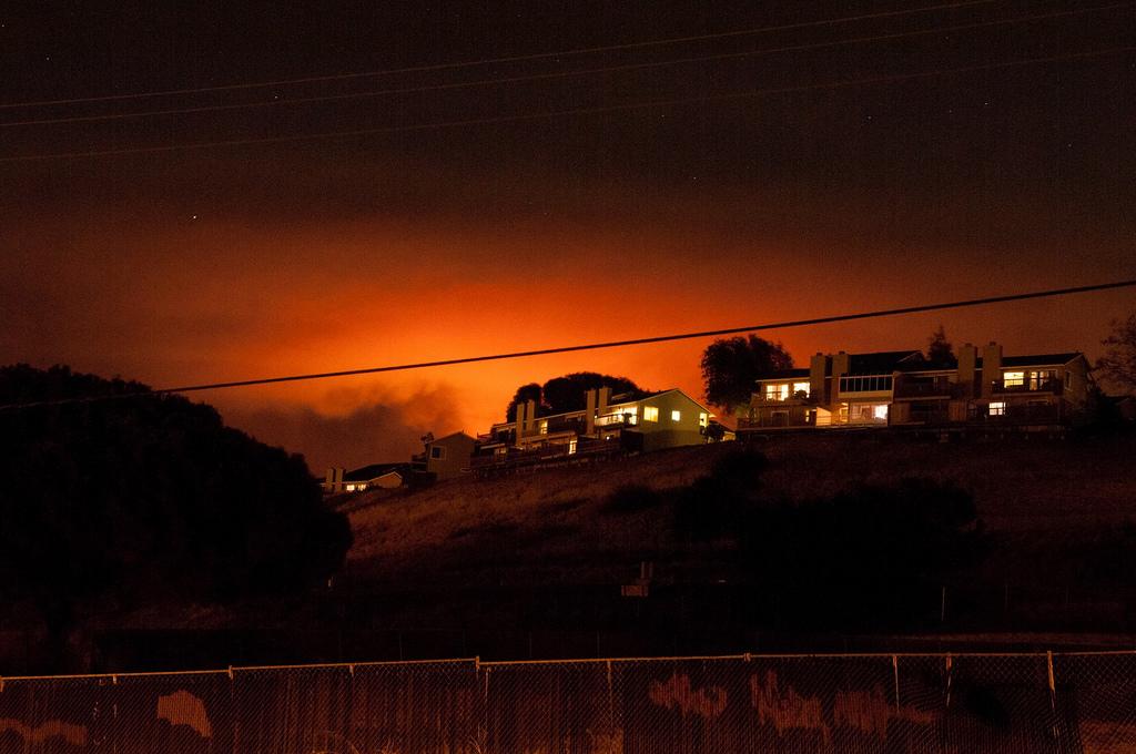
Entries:
<svg viewBox="0 0 1136 754">
<path fill-rule="evenodd" d="M 719 338 L 702 353 L 707 400 L 730 413 L 750 402 L 759 376 L 792 368 L 793 358 L 780 343 L 757 335 Z"/>
</svg>

